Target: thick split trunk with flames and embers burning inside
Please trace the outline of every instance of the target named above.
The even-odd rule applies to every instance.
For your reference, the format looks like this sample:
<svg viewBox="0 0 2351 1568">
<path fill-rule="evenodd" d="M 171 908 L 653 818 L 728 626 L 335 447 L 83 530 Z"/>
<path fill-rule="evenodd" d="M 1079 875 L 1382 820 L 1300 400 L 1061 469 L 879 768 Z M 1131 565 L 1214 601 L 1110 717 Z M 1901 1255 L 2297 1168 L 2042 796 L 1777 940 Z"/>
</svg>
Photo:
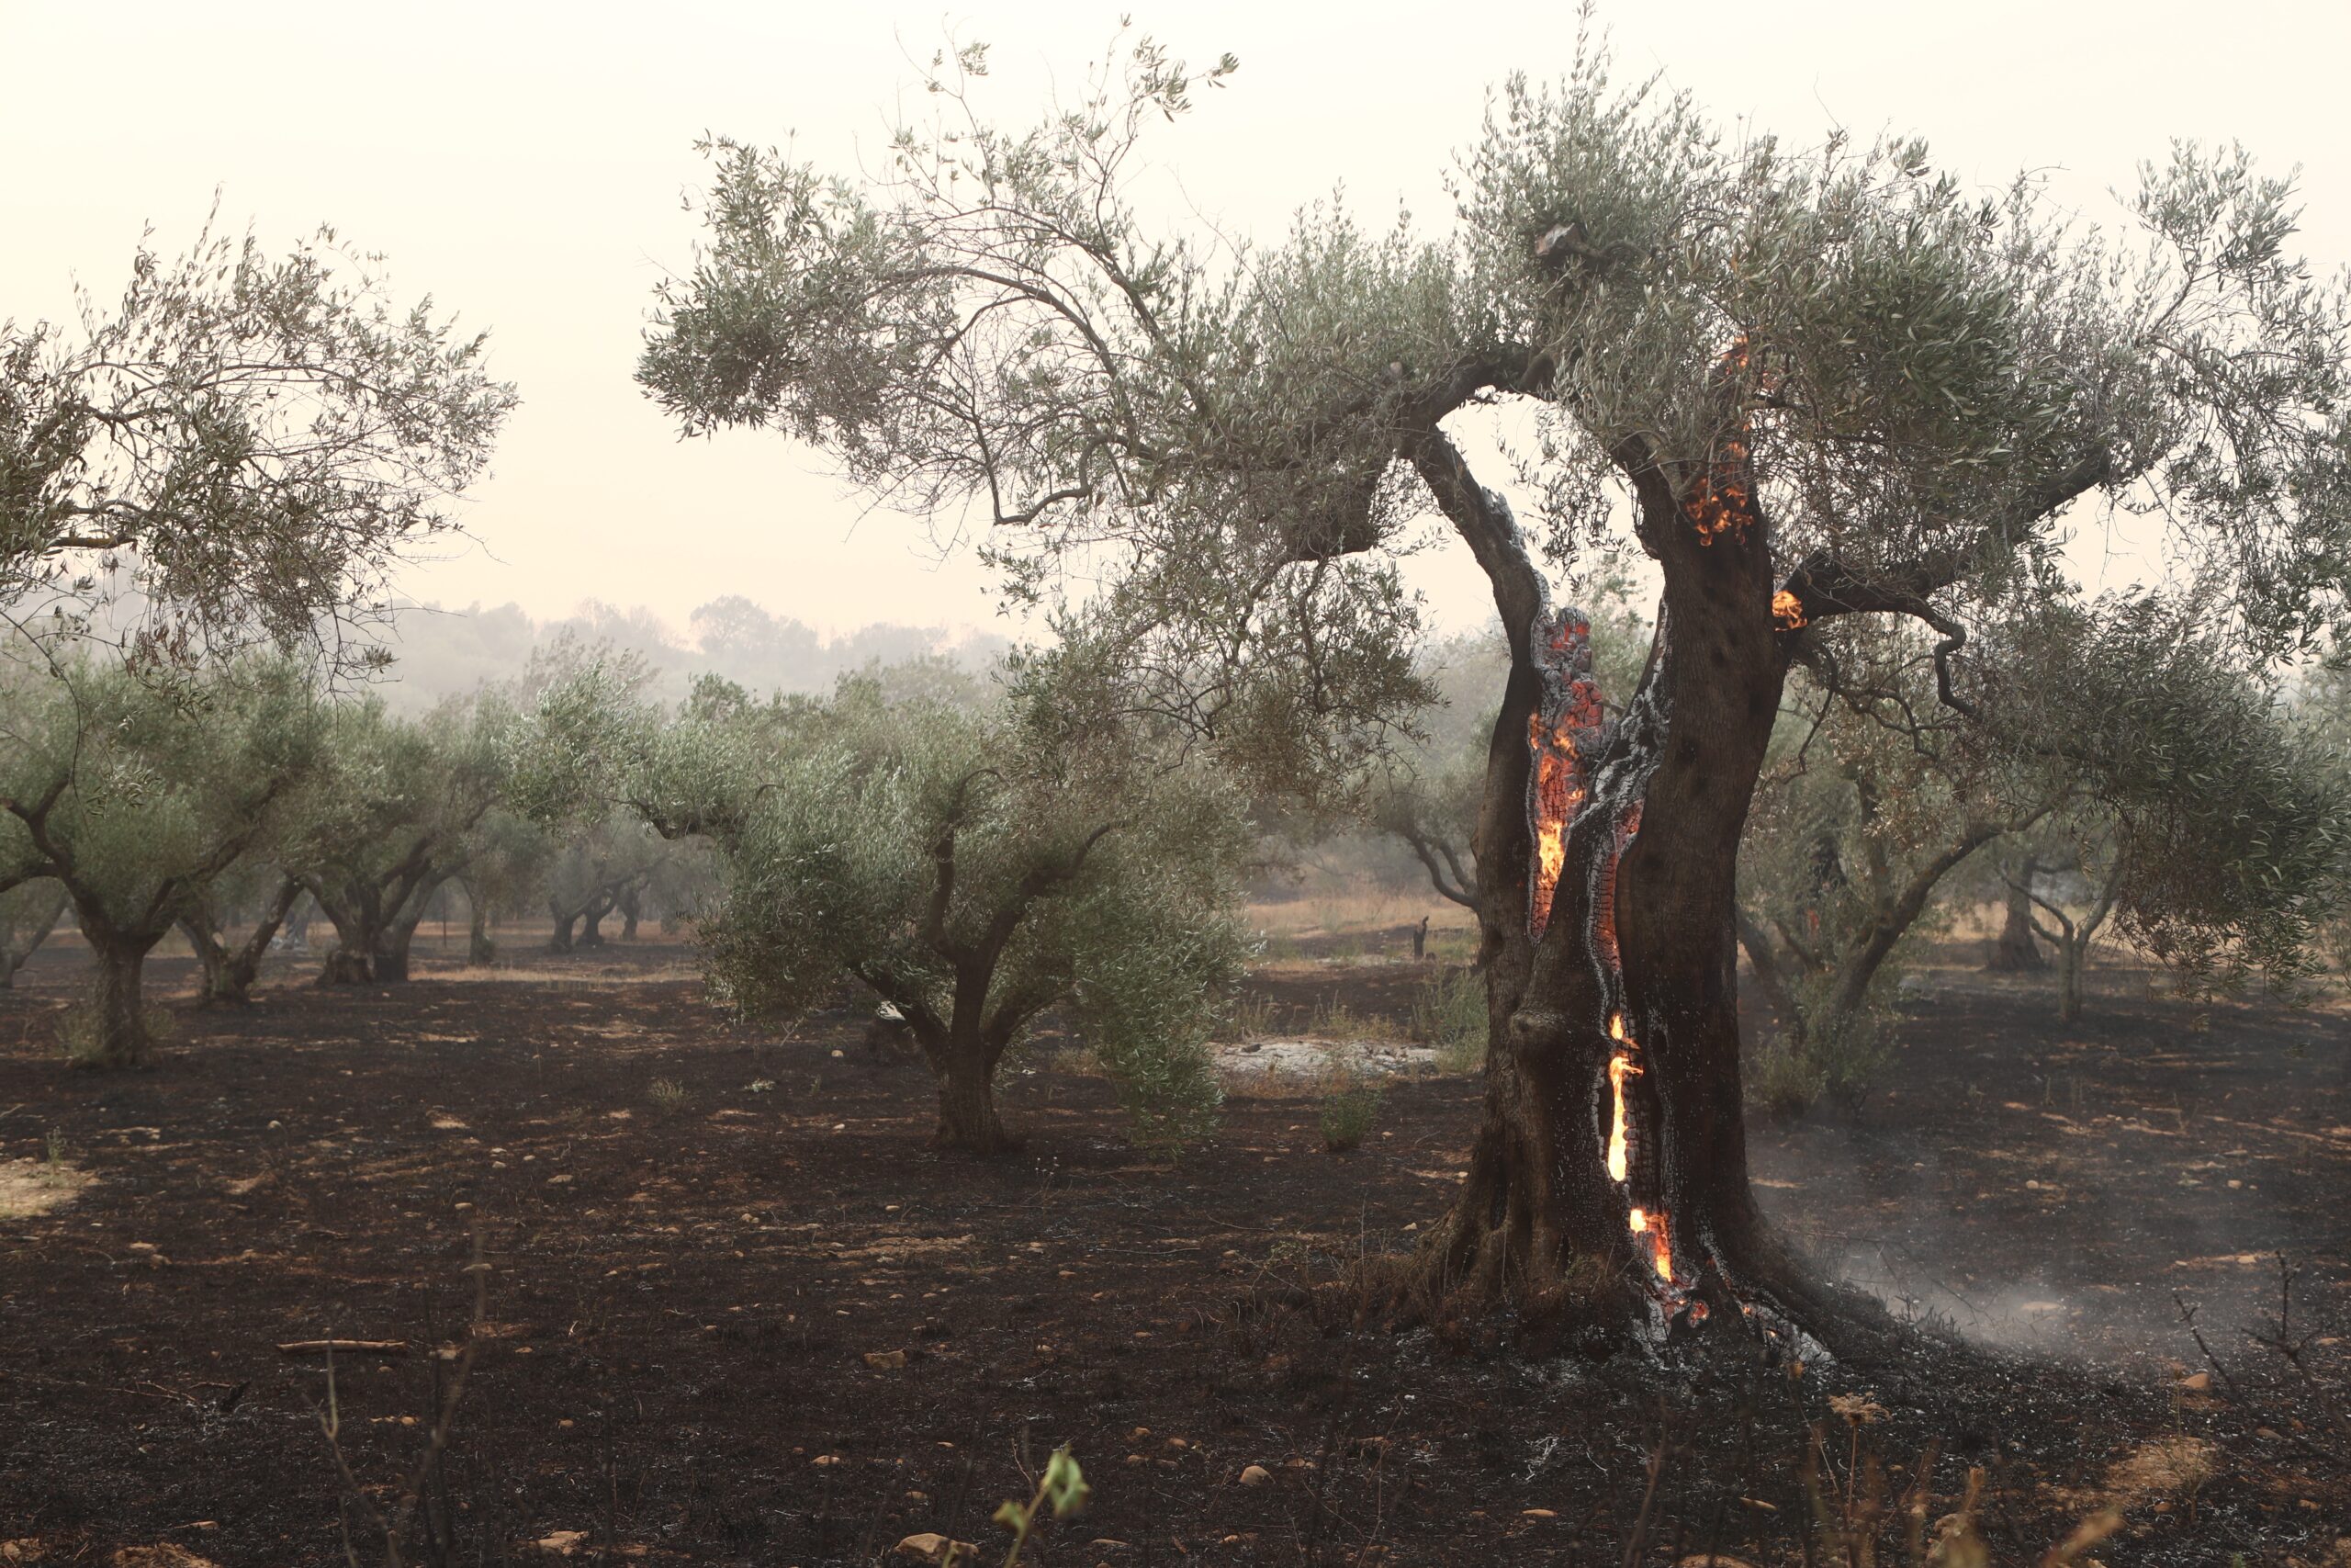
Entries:
<svg viewBox="0 0 2351 1568">
<path fill-rule="evenodd" d="M 1432 482 L 1448 515 L 1451 477 Z M 1665 602 L 1615 722 L 1589 625 L 1547 607 L 1516 529 L 1465 527 L 1512 642 L 1476 837 L 1486 1114 L 1406 1288 L 1434 1309 L 1505 1298 L 1528 1324 L 1573 1312 L 1596 1352 L 1709 1319 L 1857 1349 L 1883 1314 L 1806 1272 L 1747 1185 L 1733 898 L 1787 675 L 1770 552 L 1761 524 L 1693 529 L 1655 473 L 1639 503 Z"/>
</svg>

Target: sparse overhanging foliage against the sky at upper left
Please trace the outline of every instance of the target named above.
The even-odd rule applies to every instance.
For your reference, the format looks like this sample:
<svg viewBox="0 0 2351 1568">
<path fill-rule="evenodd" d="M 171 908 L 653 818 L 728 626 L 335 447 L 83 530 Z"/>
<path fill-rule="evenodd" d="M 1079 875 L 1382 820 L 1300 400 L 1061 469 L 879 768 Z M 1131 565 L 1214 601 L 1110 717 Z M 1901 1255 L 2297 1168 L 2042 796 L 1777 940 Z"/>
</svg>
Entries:
<svg viewBox="0 0 2351 1568">
<path fill-rule="evenodd" d="M 150 654 L 381 611 L 515 407 L 480 336 L 395 306 L 331 230 L 282 259 L 212 226 L 176 261 L 141 244 L 80 317 L 0 320 L 0 604 L 122 569 Z"/>
</svg>

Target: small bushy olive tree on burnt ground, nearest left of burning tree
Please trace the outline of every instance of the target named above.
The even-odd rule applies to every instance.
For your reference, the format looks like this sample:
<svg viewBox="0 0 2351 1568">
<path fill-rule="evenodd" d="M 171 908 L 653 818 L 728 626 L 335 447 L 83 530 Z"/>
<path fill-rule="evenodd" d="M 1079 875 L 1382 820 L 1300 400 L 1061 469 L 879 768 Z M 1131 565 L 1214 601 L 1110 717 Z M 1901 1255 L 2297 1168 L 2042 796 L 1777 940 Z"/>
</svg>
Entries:
<svg viewBox="0 0 2351 1568">
<path fill-rule="evenodd" d="M 1051 733 L 872 677 L 766 708 L 705 684 L 658 719 L 614 715 L 590 675 L 541 717 L 574 759 L 621 759 L 590 764 L 595 788 L 717 846 L 724 896 L 698 933 L 726 1001 L 795 1018 L 849 983 L 898 1009 L 938 1081 L 943 1147 L 1013 1145 L 997 1070 L 1049 1009 L 1145 1140 L 1213 1117 L 1206 1041 L 1248 947 L 1253 849 L 1215 780 L 1157 766 L 1131 733 Z"/>
</svg>

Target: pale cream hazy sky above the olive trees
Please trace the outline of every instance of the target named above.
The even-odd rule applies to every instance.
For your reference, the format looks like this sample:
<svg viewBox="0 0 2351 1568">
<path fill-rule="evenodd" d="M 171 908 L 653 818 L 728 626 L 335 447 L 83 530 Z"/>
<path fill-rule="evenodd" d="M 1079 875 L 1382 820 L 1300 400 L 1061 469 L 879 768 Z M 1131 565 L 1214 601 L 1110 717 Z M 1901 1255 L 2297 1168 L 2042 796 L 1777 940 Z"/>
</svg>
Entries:
<svg viewBox="0 0 2351 1568">
<path fill-rule="evenodd" d="M 1133 9 L 1178 54 L 1232 49 L 1241 73 L 1157 136 L 1178 202 L 1270 235 L 1345 183 L 1432 223 L 1441 176 L 1509 71 L 1549 75 L 1573 5 L 1187 0 Z M 416 569 L 411 595 L 588 597 L 686 611 L 743 592 L 820 628 L 973 625 L 987 578 L 938 562 L 922 529 L 863 515 L 823 461 L 781 437 L 679 444 L 630 367 L 651 287 L 691 254 L 682 193 L 708 127 L 792 139 L 825 165 L 872 155 L 917 61 L 952 31 L 994 45 L 985 103 L 1027 120 L 1074 87 L 1119 24 L 1110 5 L 230 5 L 0 0 L 0 317 L 66 315 L 71 282 L 113 296 L 139 230 L 181 249 L 221 190 L 270 249 L 320 221 L 386 252 L 402 296 L 430 292 L 491 329 L 524 407 L 468 508 L 480 545 Z M 1744 0 L 1608 5 L 1620 75 L 1665 71 L 1723 120 L 1789 141 L 1843 125 L 1918 132 L 1987 186 L 2048 169 L 2090 216 L 2172 136 L 2238 139 L 2304 165 L 2304 247 L 2351 259 L 2351 134 L 2335 2 L 1902 5 Z M 1458 550 L 1418 578 L 1439 621 L 1488 614 Z"/>
</svg>

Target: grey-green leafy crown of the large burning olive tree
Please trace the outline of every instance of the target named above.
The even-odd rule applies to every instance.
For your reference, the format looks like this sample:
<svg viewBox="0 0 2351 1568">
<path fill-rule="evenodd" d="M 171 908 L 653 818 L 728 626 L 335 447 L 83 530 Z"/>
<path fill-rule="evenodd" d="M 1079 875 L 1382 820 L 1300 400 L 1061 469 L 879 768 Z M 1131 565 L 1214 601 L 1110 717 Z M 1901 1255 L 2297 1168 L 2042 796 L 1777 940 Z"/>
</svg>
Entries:
<svg viewBox="0 0 2351 1568">
<path fill-rule="evenodd" d="M 1432 496 L 1472 508 L 1448 416 L 1533 404 L 1554 567 L 1615 536 L 1613 498 L 1688 498 L 1737 440 L 1808 639 L 1930 621 L 1954 701 L 2015 757 L 2071 748 L 2067 788 L 2128 804 L 2137 837 L 2182 806 L 2245 827 L 2266 860 L 2135 858 L 2130 903 L 2191 969 L 2290 961 L 2332 853 L 2306 769 L 2229 724 L 2233 762 L 2201 759 L 2172 719 L 2219 691 L 2175 701 L 2198 677 L 2146 637 L 2201 628 L 2184 658 L 2259 724 L 2248 670 L 2344 618 L 2351 294 L 2290 249 L 2288 179 L 2179 146 L 2092 230 L 1911 139 L 1730 134 L 1580 47 L 1556 85 L 1495 94 L 1451 230 L 1331 202 L 1251 247 L 1136 207 L 1143 132 L 1194 85 L 1164 49 L 1034 129 L 976 110 L 980 66 L 940 63 L 945 113 L 872 179 L 712 143 L 705 249 L 639 378 L 686 430 L 788 430 L 877 496 L 973 510 L 1011 590 L 1084 630 L 1058 656 L 1081 679 L 1056 682 L 1096 689 L 1081 712 L 1166 715 L 1258 778 L 1357 778 L 1427 698 L 1394 562 Z M 2172 529 L 2191 614 L 2083 607 L 2045 623 L 2064 658 L 2005 635 L 2062 592 L 2067 536 L 2130 512 Z M 1465 531 L 1505 581 L 1509 531 Z M 2111 698 L 2090 731 L 2041 724 L 2034 672 L 2067 668 Z"/>
</svg>

